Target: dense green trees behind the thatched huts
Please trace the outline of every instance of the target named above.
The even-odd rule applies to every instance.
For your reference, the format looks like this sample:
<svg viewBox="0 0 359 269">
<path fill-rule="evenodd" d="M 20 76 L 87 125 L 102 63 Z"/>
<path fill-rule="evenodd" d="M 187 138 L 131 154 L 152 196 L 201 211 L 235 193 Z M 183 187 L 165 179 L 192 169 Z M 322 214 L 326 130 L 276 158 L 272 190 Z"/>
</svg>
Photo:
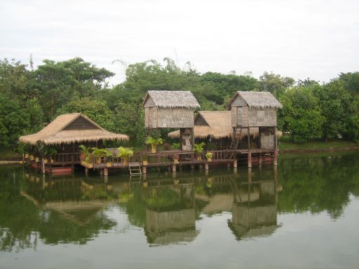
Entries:
<svg viewBox="0 0 359 269">
<path fill-rule="evenodd" d="M 82 112 L 112 132 L 130 135 L 130 146 L 144 142 L 142 98 L 147 90 L 191 90 L 201 110 L 224 110 L 236 90 L 266 90 L 283 104 L 278 127 L 294 142 L 343 137 L 359 142 L 359 72 L 339 74 L 329 83 L 265 72 L 207 72 L 190 63 L 179 68 L 149 60 L 130 64 L 126 80 L 110 88 L 114 76 L 76 57 L 62 62 L 44 60 L 34 69 L 15 60 L 0 60 L 0 145 L 41 130 L 61 113 Z M 163 130 L 164 132 L 167 130 Z M 164 137 L 164 136 L 163 136 Z"/>
</svg>

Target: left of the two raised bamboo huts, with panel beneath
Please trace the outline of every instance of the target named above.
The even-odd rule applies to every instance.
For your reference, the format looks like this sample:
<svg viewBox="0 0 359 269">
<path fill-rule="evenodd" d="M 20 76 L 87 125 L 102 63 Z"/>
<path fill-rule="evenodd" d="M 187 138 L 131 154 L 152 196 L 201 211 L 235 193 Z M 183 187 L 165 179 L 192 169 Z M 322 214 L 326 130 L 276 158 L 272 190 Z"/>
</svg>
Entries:
<svg viewBox="0 0 359 269">
<path fill-rule="evenodd" d="M 194 109 L 200 107 L 192 92 L 149 90 L 142 106 L 147 131 L 179 128 L 181 149 L 191 151 L 194 145 Z"/>
</svg>

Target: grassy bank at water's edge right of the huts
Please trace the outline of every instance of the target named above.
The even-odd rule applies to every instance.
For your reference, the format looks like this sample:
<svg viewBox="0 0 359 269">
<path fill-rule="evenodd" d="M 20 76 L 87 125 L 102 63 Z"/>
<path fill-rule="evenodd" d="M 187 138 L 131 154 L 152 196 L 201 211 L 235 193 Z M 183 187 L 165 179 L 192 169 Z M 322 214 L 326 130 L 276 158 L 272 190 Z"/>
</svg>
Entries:
<svg viewBox="0 0 359 269">
<path fill-rule="evenodd" d="M 280 151 L 335 151 L 340 149 L 358 148 L 359 144 L 344 140 L 332 140 L 328 142 L 314 140 L 305 143 L 291 142 L 289 137 L 283 136 L 278 139 L 278 148 Z"/>
</svg>

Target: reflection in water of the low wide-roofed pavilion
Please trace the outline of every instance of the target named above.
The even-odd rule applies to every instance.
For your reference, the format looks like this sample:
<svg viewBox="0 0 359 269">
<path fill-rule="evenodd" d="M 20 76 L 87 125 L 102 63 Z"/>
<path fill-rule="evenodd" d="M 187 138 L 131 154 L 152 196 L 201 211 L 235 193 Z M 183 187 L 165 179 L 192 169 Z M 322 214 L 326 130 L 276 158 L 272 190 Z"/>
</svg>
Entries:
<svg viewBox="0 0 359 269">
<path fill-rule="evenodd" d="M 51 177 L 39 181 L 32 177 L 29 176 L 27 191 L 21 194 L 35 205 L 57 212 L 79 226 L 86 226 L 98 218 L 106 219 L 100 215 L 113 197 L 111 185 L 75 177 Z"/>
</svg>

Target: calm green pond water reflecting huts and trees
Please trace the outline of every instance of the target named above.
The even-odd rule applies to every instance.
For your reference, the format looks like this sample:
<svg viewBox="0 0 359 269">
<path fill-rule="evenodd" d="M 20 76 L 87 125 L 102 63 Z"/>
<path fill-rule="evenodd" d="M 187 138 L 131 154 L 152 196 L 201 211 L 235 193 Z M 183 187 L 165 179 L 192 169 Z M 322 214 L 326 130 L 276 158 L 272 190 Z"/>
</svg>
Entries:
<svg viewBox="0 0 359 269">
<path fill-rule="evenodd" d="M 0 167 L 0 268 L 359 268 L 359 153 L 146 182 Z"/>
</svg>

